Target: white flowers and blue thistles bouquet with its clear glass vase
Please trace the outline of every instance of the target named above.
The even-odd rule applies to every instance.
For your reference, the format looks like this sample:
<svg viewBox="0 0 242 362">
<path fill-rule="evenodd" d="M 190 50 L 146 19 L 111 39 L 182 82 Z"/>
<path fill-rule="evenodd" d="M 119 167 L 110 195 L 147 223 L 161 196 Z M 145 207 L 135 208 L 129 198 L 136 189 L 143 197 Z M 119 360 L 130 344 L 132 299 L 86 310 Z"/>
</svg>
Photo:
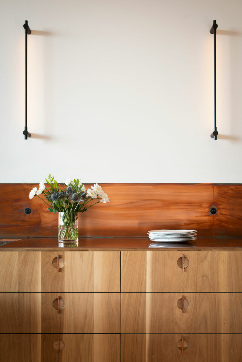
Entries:
<svg viewBox="0 0 242 362">
<path fill-rule="evenodd" d="M 37 196 L 48 205 L 47 210 L 53 214 L 59 213 L 58 239 L 60 241 L 78 241 L 78 213 L 86 211 L 98 202 L 109 202 L 108 195 L 98 184 L 86 190 L 85 185 L 78 179 L 67 179 L 65 184 L 58 185 L 54 176 L 49 174 L 45 180 L 49 188 L 45 188 L 44 181 L 41 181 L 38 189 L 34 187 L 30 191 L 29 198 Z M 41 194 L 46 201 L 40 197 Z M 93 199 L 98 201 L 90 203 Z"/>
</svg>

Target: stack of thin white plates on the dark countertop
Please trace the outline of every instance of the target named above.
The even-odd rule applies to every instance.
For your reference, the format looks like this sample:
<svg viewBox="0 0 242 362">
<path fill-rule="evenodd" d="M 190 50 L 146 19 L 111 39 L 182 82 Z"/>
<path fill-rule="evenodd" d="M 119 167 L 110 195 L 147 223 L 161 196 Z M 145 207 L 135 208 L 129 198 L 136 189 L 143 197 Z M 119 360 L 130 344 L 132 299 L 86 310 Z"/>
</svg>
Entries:
<svg viewBox="0 0 242 362">
<path fill-rule="evenodd" d="M 196 240 L 197 230 L 149 230 L 149 240 L 160 241 L 161 243 L 181 243 L 184 241 Z"/>
</svg>

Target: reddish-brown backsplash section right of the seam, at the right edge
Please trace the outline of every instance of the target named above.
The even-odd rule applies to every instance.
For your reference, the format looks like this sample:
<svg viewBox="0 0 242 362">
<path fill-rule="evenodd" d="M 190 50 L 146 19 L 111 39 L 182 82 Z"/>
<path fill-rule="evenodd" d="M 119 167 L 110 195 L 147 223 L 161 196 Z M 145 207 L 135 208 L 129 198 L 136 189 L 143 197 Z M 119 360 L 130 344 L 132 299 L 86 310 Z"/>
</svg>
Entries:
<svg viewBox="0 0 242 362">
<path fill-rule="evenodd" d="M 214 185 L 214 236 L 241 236 L 242 185 Z"/>
</svg>

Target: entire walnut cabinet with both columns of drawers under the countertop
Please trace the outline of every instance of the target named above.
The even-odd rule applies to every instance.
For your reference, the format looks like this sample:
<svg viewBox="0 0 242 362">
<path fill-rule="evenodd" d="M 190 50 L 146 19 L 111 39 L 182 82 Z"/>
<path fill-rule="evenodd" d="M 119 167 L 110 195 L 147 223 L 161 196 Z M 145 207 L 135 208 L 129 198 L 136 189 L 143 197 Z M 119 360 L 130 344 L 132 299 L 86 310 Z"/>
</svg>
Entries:
<svg viewBox="0 0 242 362">
<path fill-rule="evenodd" d="M 242 360 L 242 247 L 100 249 L 0 248 L 0 362 Z"/>
</svg>

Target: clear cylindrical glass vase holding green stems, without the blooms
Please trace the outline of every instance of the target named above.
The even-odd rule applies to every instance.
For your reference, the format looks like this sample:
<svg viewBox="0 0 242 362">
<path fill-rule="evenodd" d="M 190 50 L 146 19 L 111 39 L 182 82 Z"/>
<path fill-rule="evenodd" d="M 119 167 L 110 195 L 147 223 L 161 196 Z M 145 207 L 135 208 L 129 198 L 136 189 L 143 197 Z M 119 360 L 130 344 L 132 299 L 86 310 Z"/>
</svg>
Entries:
<svg viewBox="0 0 242 362">
<path fill-rule="evenodd" d="M 78 241 L 78 212 L 59 212 L 58 240 L 62 243 Z"/>
</svg>

